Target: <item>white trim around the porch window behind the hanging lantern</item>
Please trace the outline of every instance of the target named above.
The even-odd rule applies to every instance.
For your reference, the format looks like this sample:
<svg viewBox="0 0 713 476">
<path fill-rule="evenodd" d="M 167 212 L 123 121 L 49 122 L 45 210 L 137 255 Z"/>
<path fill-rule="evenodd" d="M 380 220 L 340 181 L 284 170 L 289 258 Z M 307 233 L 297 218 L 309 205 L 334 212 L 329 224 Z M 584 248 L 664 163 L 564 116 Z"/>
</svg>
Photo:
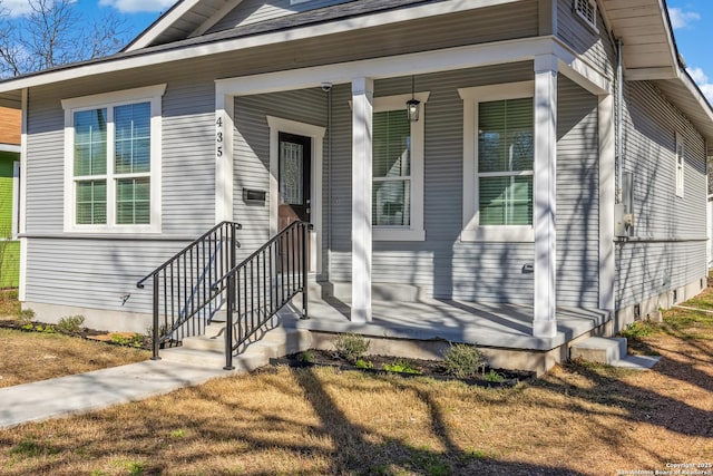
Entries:
<svg viewBox="0 0 713 476">
<path fill-rule="evenodd" d="M 426 115 L 423 106 L 430 95 L 430 91 L 421 91 L 413 96 L 407 94 L 374 98 L 374 113 L 403 110 L 406 115 L 406 101 L 414 97 L 421 101 L 421 114 L 419 120 L 411 123 L 411 224 L 408 227 L 373 226 L 373 241 L 426 241 L 426 230 L 423 230 L 423 122 Z"/>
</svg>

